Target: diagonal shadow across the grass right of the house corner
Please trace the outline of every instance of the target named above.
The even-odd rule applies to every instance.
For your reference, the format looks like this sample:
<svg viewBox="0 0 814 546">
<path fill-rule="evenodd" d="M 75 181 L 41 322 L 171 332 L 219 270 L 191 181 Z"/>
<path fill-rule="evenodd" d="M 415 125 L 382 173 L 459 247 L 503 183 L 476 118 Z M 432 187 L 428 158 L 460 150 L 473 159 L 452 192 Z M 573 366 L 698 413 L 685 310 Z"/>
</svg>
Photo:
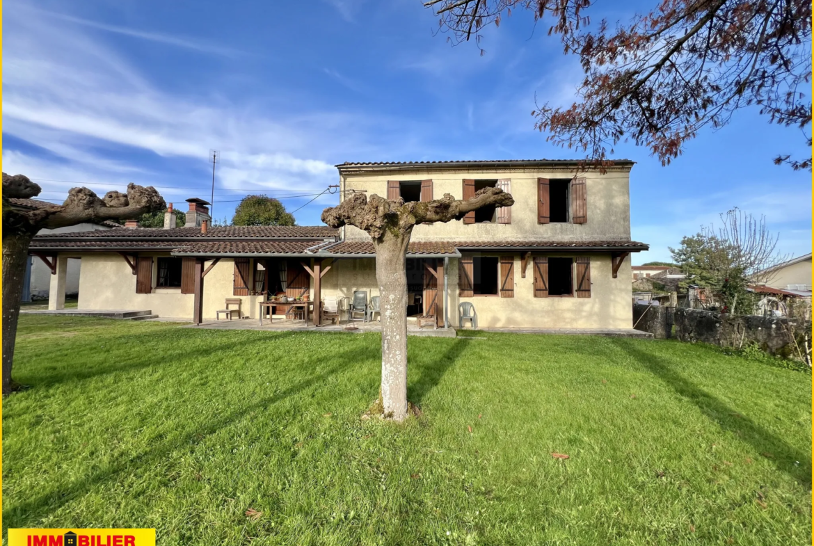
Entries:
<svg viewBox="0 0 814 546">
<path fill-rule="evenodd" d="M 635 356 L 642 366 L 672 387 L 676 394 L 694 404 L 711 422 L 716 423 L 723 430 L 733 432 L 739 439 L 749 443 L 755 452 L 769 454 L 768 459 L 777 470 L 789 474 L 805 487 L 812 486 L 811 453 L 794 448 L 786 440 L 765 430 L 749 417 L 737 413 L 733 408 L 672 369 L 672 362 L 669 360 L 642 351 L 636 345 L 623 339 L 615 340 L 615 344 L 631 356 Z M 799 462 L 799 465 L 795 465 L 795 462 Z"/>
</svg>

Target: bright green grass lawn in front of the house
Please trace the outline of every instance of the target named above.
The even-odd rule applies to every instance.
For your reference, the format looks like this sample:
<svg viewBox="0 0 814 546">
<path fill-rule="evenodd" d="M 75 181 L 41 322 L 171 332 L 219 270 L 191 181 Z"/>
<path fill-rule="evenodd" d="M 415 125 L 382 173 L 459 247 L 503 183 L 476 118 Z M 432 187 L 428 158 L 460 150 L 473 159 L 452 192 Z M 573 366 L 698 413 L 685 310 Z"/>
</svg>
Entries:
<svg viewBox="0 0 814 546">
<path fill-rule="evenodd" d="M 31 388 L 3 403 L 6 527 L 156 527 L 162 546 L 811 544 L 811 376 L 714 347 L 410 338 L 423 415 L 401 426 L 360 418 L 378 334 L 24 316 L 15 356 Z"/>
</svg>

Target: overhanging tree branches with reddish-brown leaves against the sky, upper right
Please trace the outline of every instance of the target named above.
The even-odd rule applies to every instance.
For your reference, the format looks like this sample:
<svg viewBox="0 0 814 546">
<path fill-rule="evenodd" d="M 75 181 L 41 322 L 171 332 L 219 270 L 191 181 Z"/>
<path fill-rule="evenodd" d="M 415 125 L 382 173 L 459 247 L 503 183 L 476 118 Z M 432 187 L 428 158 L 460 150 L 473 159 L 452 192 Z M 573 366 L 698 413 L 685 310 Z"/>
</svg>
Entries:
<svg viewBox="0 0 814 546">
<path fill-rule="evenodd" d="M 427 0 L 459 43 L 500 24 L 513 9 L 553 18 L 584 80 L 571 107 L 532 111 L 547 140 L 584 151 L 602 166 L 618 142 L 647 146 L 662 164 L 707 125 L 720 128 L 755 106 L 771 123 L 795 127 L 812 146 L 812 4 L 809 0 L 659 0 L 613 28 L 591 24 L 591 0 Z M 483 53 L 483 50 L 481 50 Z M 811 155 L 776 164 L 812 168 Z"/>
</svg>

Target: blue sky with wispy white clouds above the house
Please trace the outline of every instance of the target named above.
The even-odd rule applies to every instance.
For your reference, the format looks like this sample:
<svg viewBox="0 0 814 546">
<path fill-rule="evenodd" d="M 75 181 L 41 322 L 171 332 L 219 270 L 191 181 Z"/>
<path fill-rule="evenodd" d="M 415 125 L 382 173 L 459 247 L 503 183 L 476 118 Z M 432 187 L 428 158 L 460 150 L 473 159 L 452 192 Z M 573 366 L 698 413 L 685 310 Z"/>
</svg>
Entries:
<svg viewBox="0 0 814 546">
<path fill-rule="evenodd" d="M 579 65 L 522 11 L 484 32 L 480 56 L 434 35 L 419 0 L 4 3 L 3 171 L 37 179 L 45 199 L 133 181 L 183 208 L 209 198 L 211 148 L 219 219 L 248 193 L 302 207 L 344 161 L 573 156 L 530 112 L 536 99 L 570 103 Z M 594 19 L 632 15 L 613 6 L 632 9 Z M 734 206 L 765 214 L 782 252 L 811 251 L 811 175 L 773 165 L 780 153 L 806 153 L 803 135 L 755 111 L 669 167 L 619 146 L 615 157 L 637 161 L 632 238 L 651 245 L 634 263 L 667 260 Z M 336 202 L 319 197 L 297 222 L 318 224 Z"/>
</svg>

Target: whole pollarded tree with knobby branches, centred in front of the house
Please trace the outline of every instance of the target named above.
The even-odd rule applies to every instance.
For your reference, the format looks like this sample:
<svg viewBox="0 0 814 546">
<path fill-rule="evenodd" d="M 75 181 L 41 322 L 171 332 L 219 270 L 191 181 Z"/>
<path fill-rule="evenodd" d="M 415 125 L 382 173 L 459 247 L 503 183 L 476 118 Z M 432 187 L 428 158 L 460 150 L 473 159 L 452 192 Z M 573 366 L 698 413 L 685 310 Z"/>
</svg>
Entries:
<svg viewBox="0 0 814 546">
<path fill-rule="evenodd" d="M 383 414 L 395 421 L 407 417 L 407 268 L 410 236 L 418 224 L 461 220 L 467 212 L 494 205 L 510 207 L 511 194 L 500 188 L 484 188 L 462 201 L 444 194 L 429 202 L 403 199 L 390 201 L 373 194 L 351 194 L 338 207 L 326 208 L 322 221 L 332 228 L 353 225 L 373 239 L 376 281 L 382 311 Z"/>
</svg>

